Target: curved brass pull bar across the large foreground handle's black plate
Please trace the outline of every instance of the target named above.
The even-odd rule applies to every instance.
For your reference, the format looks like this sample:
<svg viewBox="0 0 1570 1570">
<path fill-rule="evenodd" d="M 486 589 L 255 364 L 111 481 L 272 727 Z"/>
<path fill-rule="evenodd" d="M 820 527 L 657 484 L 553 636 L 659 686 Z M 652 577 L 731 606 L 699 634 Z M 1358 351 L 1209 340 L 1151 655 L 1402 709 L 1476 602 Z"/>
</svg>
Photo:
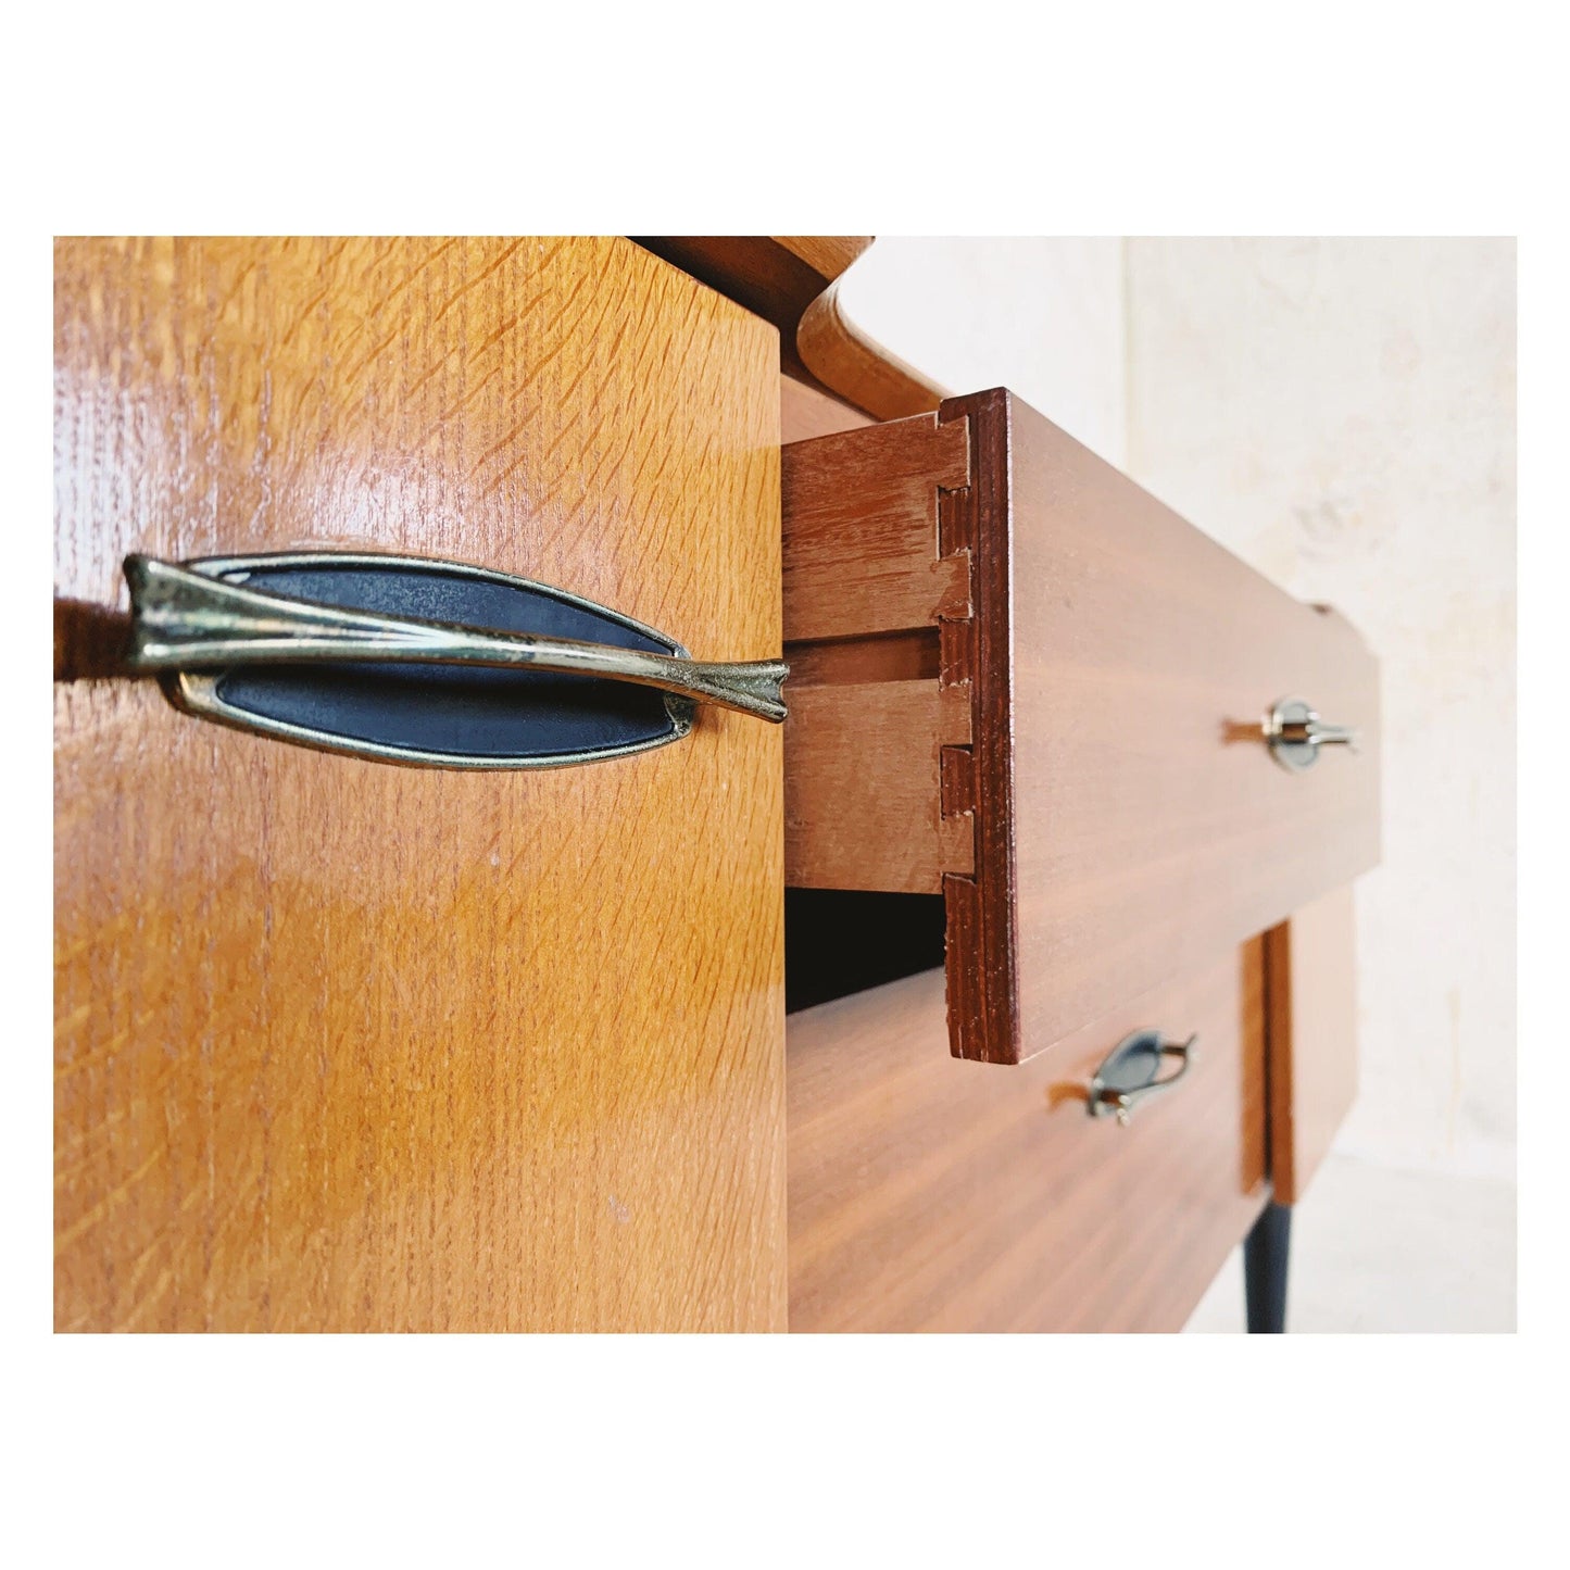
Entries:
<svg viewBox="0 0 1570 1570">
<path fill-rule="evenodd" d="M 776 725 L 785 719 L 780 688 L 790 667 L 779 659 L 714 664 L 458 622 L 374 615 L 248 589 L 214 576 L 212 565 L 196 571 L 140 554 L 126 557 L 126 581 L 135 670 L 364 661 L 557 670 L 658 688 Z"/>
</svg>

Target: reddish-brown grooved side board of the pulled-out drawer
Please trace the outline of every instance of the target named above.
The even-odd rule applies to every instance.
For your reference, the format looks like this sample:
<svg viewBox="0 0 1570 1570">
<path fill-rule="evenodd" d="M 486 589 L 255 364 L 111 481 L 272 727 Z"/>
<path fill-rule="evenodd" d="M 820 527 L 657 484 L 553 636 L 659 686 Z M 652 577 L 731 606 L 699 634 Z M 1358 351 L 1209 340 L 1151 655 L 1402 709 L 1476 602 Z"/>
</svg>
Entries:
<svg viewBox="0 0 1570 1570">
<path fill-rule="evenodd" d="M 972 816 L 944 804 L 945 747 L 970 694 L 944 685 L 937 626 L 970 615 L 969 554 L 939 550 L 945 488 L 970 479 L 969 427 L 934 416 L 783 452 L 785 879 L 942 893 L 973 871 Z"/>
</svg>

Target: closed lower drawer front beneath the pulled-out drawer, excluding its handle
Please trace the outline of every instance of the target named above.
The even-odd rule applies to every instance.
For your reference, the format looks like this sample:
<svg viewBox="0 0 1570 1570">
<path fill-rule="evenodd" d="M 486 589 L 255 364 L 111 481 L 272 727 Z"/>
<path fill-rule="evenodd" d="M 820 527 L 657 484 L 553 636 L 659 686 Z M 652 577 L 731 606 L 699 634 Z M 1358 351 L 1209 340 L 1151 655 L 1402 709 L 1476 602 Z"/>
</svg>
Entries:
<svg viewBox="0 0 1570 1570">
<path fill-rule="evenodd" d="M 791 1330 L 1178 1330 L 1264 1204 L 1264 950 L 1014 1069 L 950 1057 L 931 970 L 791 1016 Z M 1086 1086 L 1196 1035 L 1126 1127 Z"/>
</svg>

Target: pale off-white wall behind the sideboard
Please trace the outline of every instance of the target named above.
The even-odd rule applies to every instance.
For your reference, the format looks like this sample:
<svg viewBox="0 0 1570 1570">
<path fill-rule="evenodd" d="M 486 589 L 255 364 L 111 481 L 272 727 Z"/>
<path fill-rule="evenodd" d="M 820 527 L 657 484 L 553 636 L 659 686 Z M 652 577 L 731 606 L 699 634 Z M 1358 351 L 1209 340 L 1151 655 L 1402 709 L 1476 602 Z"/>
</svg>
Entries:
<svg viewBox="0 0 1570 1570">
<path fill-rule="evenodd" d="M 1300 1207 L 1294 1324 L 1513 1327 L 1513 242 L 879 239 L 843 298 L 1367 637 L 1363 1091 Z M 1196 1325 L 1236 1298 L 1218 1283 Z"/>
</svg>

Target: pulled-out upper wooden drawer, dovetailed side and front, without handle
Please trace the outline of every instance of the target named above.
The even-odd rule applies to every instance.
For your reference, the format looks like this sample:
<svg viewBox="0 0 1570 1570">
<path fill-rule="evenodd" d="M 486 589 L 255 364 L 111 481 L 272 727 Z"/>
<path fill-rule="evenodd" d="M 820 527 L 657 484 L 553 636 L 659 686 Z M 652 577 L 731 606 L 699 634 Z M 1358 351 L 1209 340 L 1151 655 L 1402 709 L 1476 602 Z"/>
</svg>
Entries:
<svg viewBox="0 0 1570 1570">
<path fill-rule="evenodd" d="M 785 449 L 787 881 L 942 893 L 1014 1063 L 1378 859 L 1377 666 L 1008 392 Z M 1356 727 L 1289 772 L 1262 714 Z"/>
</svg>

